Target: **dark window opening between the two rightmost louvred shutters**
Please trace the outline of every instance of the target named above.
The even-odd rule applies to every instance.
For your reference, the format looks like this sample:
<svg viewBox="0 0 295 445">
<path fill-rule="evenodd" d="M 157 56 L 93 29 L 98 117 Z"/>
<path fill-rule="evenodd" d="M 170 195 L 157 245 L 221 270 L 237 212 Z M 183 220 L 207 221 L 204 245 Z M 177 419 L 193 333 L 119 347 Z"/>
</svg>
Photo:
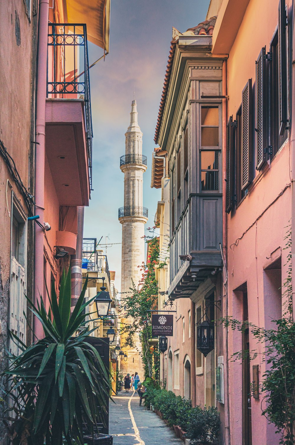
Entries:
<svg viewBox="0 0 295 445">
<path fill-rule="evenodd" d="M 272 61 L 270 65 L 270 135 L 272 156 L 275 156 L 277 151 L 283 145 L 287 138 L 287 131 L 280 135 L 280 75 L 279 75 L 279 40 L 278 33 L 275 34 L 274 39 L 271 42 L 271 55 Z M 286 127 L 285 127 L 286 128 Z"/>
</svg>

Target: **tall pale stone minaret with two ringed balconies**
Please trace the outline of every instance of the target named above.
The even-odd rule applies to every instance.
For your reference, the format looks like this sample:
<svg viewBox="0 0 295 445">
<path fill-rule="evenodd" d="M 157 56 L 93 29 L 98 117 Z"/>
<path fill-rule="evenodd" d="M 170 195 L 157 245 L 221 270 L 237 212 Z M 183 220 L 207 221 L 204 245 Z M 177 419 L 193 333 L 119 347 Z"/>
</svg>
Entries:
<svg viewBox="0 0 295 445">
<path fill-rule="evenodd" d="M 146 156 L 142 155 L 142 132 L 138 125 L 136 101 L 132 101 L 130 125 L 125 133 L 126 154 L 120 159 L 120 169 L 124 173 L 124 207 L 119 209 L 122 224 L 122 269 L 121 295 L 130 295 L 132 281 L 138 285 L 142 277 L 140 267 L 145 261 L 144 225 L 147 222 L 147 209 L 142 206 L 143 173 L 146 171 Z M 121 320 L 124 323 L 124 320 Z M 129 320 L 130 322 L 130 320 Z M 138 336 L 135 339 L 139 343 Z M 139 345 L 138 345 L 139 346 Z M 138 351 L 126 351 L 128 360 L 121 362 L 126 372 L 139 372 L 141 366 Z M 136 356 L 136 360 L 135 360 Z M 131 375 L 131 374 L 130 374 Z M 140 376 L 143 377 L 143 376 Z"/>
</svg>

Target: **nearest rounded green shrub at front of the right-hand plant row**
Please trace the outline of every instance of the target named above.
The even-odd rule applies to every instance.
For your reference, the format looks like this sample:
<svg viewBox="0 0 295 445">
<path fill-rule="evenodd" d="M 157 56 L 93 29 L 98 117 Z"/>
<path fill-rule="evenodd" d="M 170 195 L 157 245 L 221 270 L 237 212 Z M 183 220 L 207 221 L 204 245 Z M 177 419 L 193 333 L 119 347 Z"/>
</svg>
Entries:
<svg viewBox="0 0 295 445">
<path fill-rule="evenodd" d="M 220 417 L 213 406 L 201 409 L 200 406 L 191 408 L 187 419 L 187 434 L 192 445 L 209 444 L 217 438 L 220 429 Z"/>
</svg>

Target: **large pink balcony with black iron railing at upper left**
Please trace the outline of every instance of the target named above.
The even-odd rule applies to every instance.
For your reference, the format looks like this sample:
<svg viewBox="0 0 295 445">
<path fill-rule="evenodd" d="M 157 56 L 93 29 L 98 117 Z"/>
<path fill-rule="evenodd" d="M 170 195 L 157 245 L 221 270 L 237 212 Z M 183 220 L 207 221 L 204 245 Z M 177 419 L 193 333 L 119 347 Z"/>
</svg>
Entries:
<svg viewBox="0 0 295 445">
<path fill-rule="evenodd" d="M 88 205 L 92 120 L 85 24 L 49 24 L 46 154 L 60 205 Z"/>
</svg>

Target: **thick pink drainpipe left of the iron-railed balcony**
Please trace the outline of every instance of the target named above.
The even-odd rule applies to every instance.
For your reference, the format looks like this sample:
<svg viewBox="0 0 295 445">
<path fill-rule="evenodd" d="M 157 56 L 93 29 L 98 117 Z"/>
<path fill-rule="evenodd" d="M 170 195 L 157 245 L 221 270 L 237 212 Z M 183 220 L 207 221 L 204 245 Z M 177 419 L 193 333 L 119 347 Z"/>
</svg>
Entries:
<svg viewBox="0 0 295 445">
<path fill-rule="evenodd" d="M 44 221 L 44 170 L 45 170 L 45 106 L 47 78 L 47 36 L 48 36 L 49 0 L 39 1 L 38 49 L 37 49 L 37 90 L 36 90 L 36 149 L 35 149 L 35 214 L 39 214 L 40 222 Z M 34 302 L 43 294 L 44 266 L 43 246 L 44 232 L 35 224 L 35 274 Z M 43 328 L 39 320 L 34 318 L 34 332 L 38 338 L 43 337 Z"/>
</svg>

